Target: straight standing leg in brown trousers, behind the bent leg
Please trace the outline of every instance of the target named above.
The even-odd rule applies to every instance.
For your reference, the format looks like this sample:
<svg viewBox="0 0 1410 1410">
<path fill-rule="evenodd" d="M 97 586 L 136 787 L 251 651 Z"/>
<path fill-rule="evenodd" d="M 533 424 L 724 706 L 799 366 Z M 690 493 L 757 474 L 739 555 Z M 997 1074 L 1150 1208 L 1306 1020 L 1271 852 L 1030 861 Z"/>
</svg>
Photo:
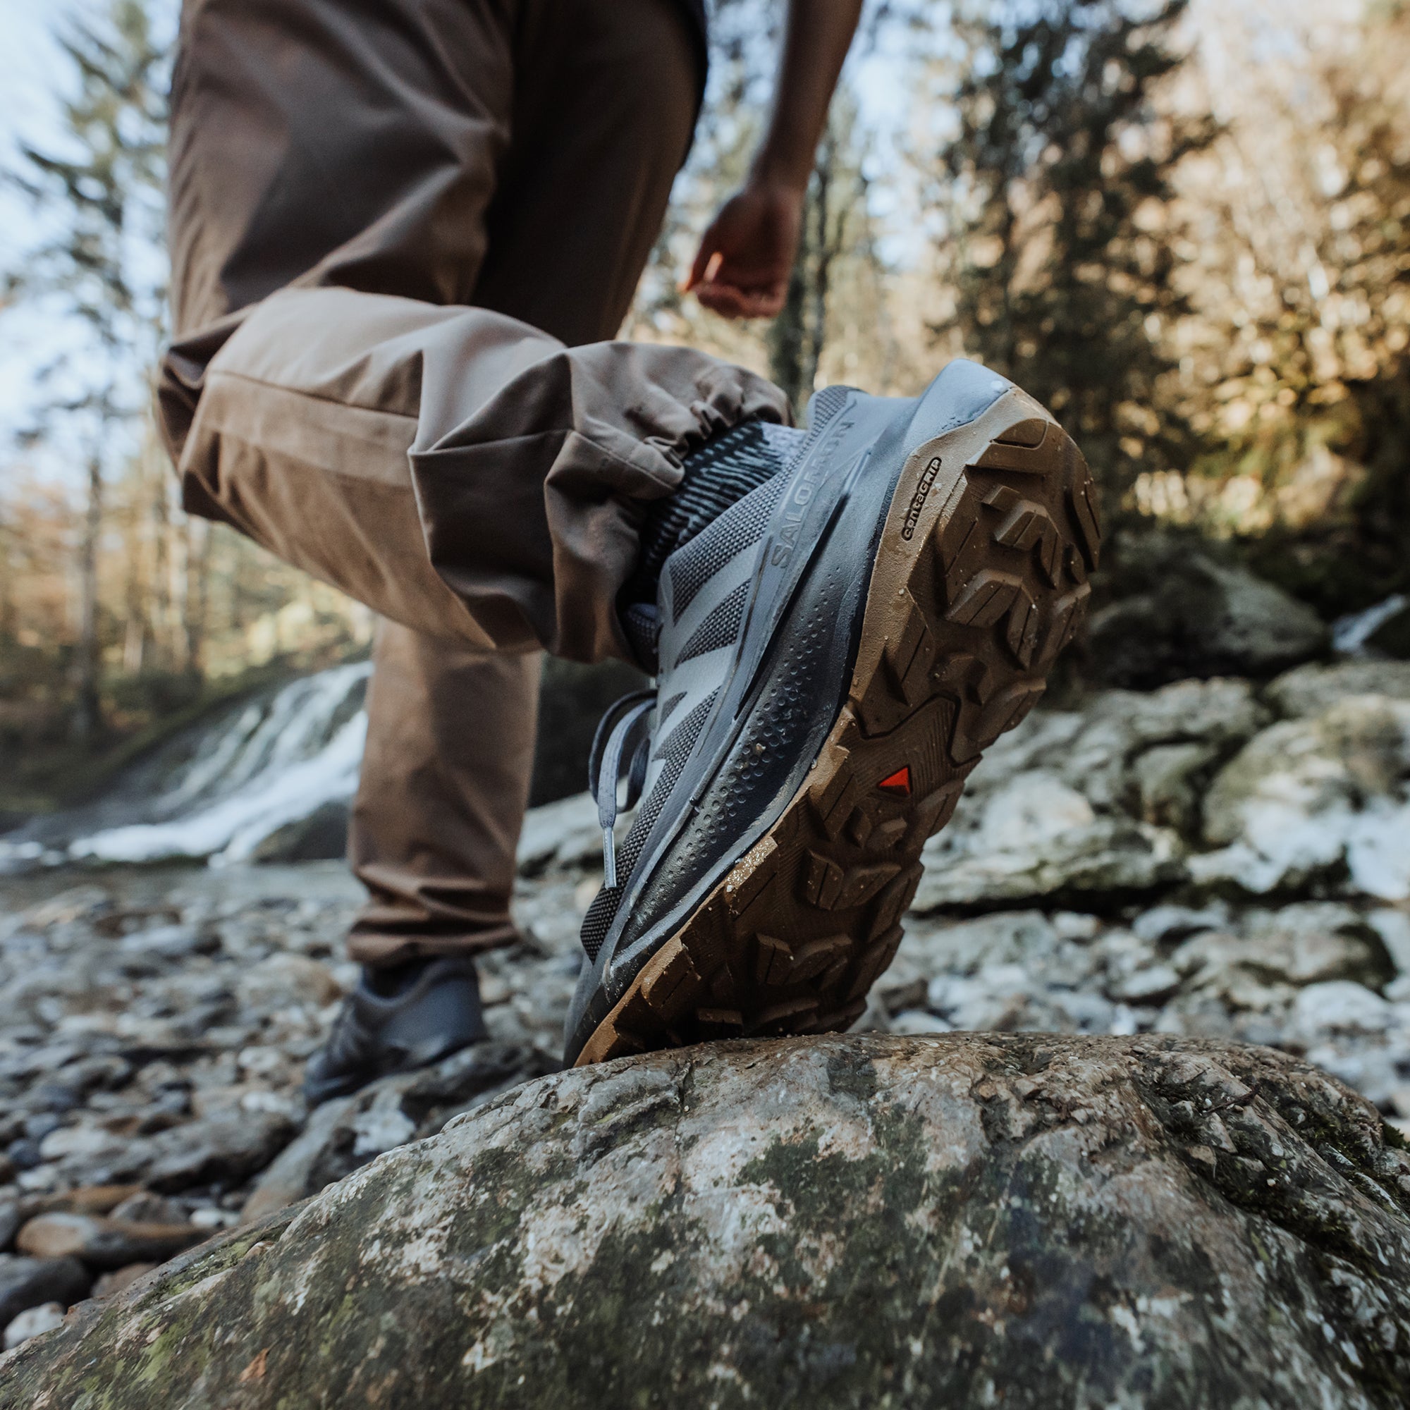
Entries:
<svg viewBox="0 0 1410 1410">
<path fill-rule="evenodd" d="M 689 142 L 689 37 L 675 0 L 554 0 L 523 7 L 513 55 L 510 138 L 472 302 L 567 344 L 609 338 Z M 395 964 L 505 943 L 539 658 L 384 620 L 375 661 L 350 836 L 369 901 L 348 952 Z"/>
</svg>

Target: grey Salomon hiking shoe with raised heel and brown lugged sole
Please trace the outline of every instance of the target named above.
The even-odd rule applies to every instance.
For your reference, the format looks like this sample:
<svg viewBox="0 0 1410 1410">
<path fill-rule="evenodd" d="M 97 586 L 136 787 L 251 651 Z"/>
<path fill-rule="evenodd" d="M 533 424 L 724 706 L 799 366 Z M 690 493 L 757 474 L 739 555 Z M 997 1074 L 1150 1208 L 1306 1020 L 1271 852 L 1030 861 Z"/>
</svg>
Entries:
<svg viewBox="0 0 1410 1410">
<path fill-rule="evenodd" d="M 570 1063 L 853 1024 L 921 847 L 1086 611 L 1091 479 L 1012 384 L 956 361 L 915 399 L 829 388 L 809 422 L 666 560 L 656 695 L 599 732 Z M 644 795 L 620 849 L 619 774 Z"/>
</svg>

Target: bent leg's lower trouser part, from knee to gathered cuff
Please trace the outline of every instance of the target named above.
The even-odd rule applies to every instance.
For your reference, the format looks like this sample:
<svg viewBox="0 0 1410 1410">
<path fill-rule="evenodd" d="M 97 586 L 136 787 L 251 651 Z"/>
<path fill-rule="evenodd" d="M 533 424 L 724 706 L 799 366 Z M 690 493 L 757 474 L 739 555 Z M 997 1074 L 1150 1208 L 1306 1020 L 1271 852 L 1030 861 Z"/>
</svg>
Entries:
<svg viewBox="0 0 1410 1410">
<path fill-rule="evenodd" d="M 183 351 L 164 391 L 190 509 L 416 630 L 581 661 L 632 660 L 616 598 L 682 451 L 787 416 L 763 378 L 687 348 L 564 348 L 336 288 L 265 299 L 193 379 Z"/>
</svg>

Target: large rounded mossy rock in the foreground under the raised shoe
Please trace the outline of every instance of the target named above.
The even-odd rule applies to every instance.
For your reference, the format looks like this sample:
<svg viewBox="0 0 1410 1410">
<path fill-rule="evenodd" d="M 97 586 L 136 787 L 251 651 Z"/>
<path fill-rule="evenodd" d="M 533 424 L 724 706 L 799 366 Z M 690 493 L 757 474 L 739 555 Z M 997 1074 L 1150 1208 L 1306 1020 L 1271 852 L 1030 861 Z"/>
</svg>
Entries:
<svg viewBox="0 0 1410 1410">
<path fill-rule="evenodd" d="M 1403 1406 L 1385 1139 L 1316 1069 L 1197 1041 L 630 1059 L 86 1306 L 0 1406 Z"/>
</svg>

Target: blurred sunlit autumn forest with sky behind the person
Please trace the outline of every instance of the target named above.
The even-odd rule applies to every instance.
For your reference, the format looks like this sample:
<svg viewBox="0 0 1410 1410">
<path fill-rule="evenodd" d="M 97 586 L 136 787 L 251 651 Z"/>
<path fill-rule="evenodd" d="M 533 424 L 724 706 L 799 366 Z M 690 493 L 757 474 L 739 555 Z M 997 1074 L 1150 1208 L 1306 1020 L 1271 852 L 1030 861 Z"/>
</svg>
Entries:
<svg viewBox="0 0 1410 1410">
<path fill-rule="evenodd" d="M 1103 486 L 1098 608 L 1141 585 L 1152 543 L 1193 540 L 1324 622 L 1410 588 L 1399 0 L 870 4 L 771 324 L 678 292 L 763 121 L 781 7 L 712 10 L 705 114 L 623 337 L 767 371 L 799 415 L 815 388 L 905 395 L 957 355 L 1012 376 Z M 24 400 L 0 444 L 11 818 L 374 629 L 189 517 L 157 440 L 168 11 L 104 0 L 68 23 L 61 123 L 4 172 L 32 238 L 0 269 L 0 331 L 63 330 L 6 374 Z"/>
</svg>

